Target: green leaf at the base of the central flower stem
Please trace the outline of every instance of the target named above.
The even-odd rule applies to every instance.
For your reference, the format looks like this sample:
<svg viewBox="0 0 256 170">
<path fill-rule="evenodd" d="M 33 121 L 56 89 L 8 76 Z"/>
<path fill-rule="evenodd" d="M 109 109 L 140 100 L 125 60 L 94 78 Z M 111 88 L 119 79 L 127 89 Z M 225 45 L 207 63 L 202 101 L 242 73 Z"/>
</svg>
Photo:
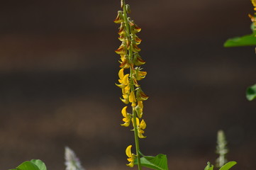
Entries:
<svg viewBox="0 0 256 170">
<path fill-rule="evenodd" d="M 157 154 L 157 156 L 144 156 L 140 158 L 142 166 L 156 169 L 156 170 L 168 170 L 167 157 L 165 154 Z M 135 159 L 134 164 L 138 164 L 138 160 Z"/>
</svg>

